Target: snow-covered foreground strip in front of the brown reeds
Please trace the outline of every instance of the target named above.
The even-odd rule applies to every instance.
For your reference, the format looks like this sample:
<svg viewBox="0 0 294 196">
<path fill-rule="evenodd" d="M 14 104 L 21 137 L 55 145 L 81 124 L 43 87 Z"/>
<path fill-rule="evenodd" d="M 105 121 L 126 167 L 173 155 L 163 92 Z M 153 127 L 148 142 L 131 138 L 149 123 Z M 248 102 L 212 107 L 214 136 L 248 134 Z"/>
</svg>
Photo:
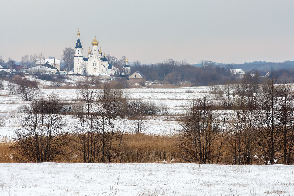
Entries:
<svg viewBox="0 0 294 196">
<path fill-rule="evenodd" d="M 2 196 L 294 196 L 294 166 L 2 163 L 0 192 Z"/>
</svg>

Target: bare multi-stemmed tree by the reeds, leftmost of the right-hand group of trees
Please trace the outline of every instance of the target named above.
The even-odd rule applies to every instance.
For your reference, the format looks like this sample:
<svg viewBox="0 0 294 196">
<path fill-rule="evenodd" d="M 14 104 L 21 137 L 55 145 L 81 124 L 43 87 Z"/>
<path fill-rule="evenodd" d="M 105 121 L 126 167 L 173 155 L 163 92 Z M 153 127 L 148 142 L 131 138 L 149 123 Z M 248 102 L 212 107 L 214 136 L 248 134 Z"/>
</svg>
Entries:
<svg viewBox="0 0 294 196">
<path fill-rule="evenodd" d="M 221 120 L 211 101 L 192 97 L 189 109 L 183 115 L 179 147 L 183 160 L 189 162 L 211 163 L 216 154 L 213 150 L 220 132 Z"/>
</svg>

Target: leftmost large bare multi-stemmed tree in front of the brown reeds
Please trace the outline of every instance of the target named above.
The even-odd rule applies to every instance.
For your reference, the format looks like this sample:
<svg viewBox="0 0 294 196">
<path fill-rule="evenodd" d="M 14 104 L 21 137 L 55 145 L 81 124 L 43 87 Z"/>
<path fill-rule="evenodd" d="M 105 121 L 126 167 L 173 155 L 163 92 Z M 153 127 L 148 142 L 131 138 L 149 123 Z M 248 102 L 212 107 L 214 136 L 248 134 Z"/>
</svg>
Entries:
<svg viewBox="0 0 294 196">
<path fill-rule="evenodd" d="M 18 160 L 48 162 L 61 158 L 62 147 L 68 139 L 64 130 L 66 120 L 63 115 L 56 114 L 60 108 L 54 93 L 49 99 L 30 105 L 20 120 L 21 128 L 14 131 L 16 144 L 12 148 L 19 152 Z"/>
</svg>

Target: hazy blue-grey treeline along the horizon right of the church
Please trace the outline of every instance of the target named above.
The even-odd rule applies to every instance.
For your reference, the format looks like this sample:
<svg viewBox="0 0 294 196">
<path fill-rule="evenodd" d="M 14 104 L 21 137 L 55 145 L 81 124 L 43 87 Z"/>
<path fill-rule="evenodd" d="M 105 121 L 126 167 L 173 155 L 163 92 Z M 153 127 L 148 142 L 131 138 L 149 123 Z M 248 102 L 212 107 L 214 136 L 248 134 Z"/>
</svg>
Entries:
<svg viewBox="0 0 294 196">
<path fill-rule="evenodd" d="M 278 64 L 276 67 L 277 75 L 282 78 L 284 73 L 290 76 L 294 75 L 294 61 L 286 61 L 284 63 L 271 63 L 271 65 Z M 262 63 L 262 62 L 261 62 Z M 291 64 L 292 63 L 292 64 Z M 252 64 L 252 66 L 251 66 Z M 266 64 L 264 62 L 264 64 Z M 211 61 L 203 61 L 201 66 L 197 67 L 194 64 L 186 62 L 179 62 L 174 59 L 166 59 L 161 63 L 146 65 L 136 64 L 131 66 L 131 73 L 140 71 L 146 76 L 146 81 L 166 81 L 170 84 L 176 84 L 181 81 L 188 81 L 193 83 L 194 86 L 207 86 L 214 84 L 234 83 L 239 80 L 238 77 L 232 75 L 230 69 L 243 69 L 247 74 L 250 72 L 258 73 L 261 69 L 258 64 L 245 63 L 245 64 L 222 64 L 217 65 Z M 270 65 L 270 63 L 268 63 Z M 257 69 L 258 68 L 258 69 Z M 269 66 L 266 71 L 270 71 Z"/>
</svg>

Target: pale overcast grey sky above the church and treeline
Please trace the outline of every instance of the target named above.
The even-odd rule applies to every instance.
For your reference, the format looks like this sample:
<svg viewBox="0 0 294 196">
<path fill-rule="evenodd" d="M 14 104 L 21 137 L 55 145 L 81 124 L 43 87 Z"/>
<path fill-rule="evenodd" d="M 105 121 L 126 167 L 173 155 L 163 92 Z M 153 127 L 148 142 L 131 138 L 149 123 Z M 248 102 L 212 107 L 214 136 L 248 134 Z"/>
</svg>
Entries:
<svg viewBox="0 0 294 196">
<path fill-rule="evenodd" d="M 0 56 L 61 58 L 91 41 L 130 61 L 198 63 L 294 60 L 294 1 L 0 0 Z"/>
</svg>

